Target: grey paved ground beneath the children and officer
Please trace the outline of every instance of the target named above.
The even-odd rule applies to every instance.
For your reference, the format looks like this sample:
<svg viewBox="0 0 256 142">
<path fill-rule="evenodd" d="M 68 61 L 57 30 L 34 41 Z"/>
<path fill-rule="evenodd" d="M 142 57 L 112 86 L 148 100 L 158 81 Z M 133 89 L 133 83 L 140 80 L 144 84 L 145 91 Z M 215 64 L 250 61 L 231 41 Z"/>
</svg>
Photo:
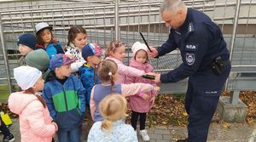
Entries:
<svg viewBox="0 0 256 142">
<path fill-rule="evenodd" d="M 19 119 L 13 119 L 13 125 L 9 127 L 11 133 L 15 135 L 15 142 L 20 142 Z M 83 124 L 82 142 L 86 142 L 86 123 Z M 175 142 L 177 139 L 187 137 L 186 127 L 164 127 L 156 126 L 148 129 L 150 142 Z M 3 139 L 3 135 L 0 135 Z M 138 135 L 139 142 L 143 139 Z M 55 140 L 57 141 L 57 139 Z M 224 128 L 223 124 L 212 122 L 208 133 L 207 142 L 256 142 L 256 122 L 251 124 L 230 123 L 228 128 Z"/>
</svg>

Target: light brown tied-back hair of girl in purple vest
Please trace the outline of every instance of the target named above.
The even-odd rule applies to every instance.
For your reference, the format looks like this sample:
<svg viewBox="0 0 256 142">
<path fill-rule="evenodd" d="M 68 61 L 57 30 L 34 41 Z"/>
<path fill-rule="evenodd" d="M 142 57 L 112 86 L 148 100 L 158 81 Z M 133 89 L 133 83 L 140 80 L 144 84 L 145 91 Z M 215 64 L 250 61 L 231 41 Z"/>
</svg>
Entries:
<svg viewBox="0 0 256 142">
<path fill-rule="evenodd" d="M 102 60 L 96 68 L 97 76 L 102 82 L 111 82 L 111 93 L 113 92 L 114 77 L 117 70 L 118 65 L 113 60 Z"/>
</svg>

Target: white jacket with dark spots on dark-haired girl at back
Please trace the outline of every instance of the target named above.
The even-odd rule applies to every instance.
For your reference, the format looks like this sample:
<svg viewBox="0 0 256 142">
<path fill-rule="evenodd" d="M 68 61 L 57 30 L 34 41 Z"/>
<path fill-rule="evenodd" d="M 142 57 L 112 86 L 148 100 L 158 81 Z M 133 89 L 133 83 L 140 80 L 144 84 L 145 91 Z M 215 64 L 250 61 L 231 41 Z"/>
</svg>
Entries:
<svg viewBox="0 0 256 142">
<path fill-rule="evenodd" d="M 78 59 L 76 60 L 76 62 L 71 64 L 71 68 L 72 72 L 79 71 L 79 67 L 81 67 L 85 63 L 85 60 L 82 56 L 82 49 L 75 47 L 73 43 L 69 43 L 65 54 L 72 55 L 74 58 Z"/>
</svg>

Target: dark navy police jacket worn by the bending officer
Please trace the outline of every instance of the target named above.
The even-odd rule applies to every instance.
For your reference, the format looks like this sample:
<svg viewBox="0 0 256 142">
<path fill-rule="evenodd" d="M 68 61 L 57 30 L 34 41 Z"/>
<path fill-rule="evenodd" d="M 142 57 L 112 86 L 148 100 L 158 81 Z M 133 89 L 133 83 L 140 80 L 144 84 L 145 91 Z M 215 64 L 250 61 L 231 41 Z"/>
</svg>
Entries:
<svg viewBox="0 0 256 142">
<path fill-rule="evenodd" d="M 158 48 L 162 56 L 178 48 L 183 63 L 175 70 L 162 74 L 161 82 L 178 82 L 210 68 L 212 61 L 221 56 L 229 59 L 229 51 L 222 32 L 207 14 L 188 9 L 186 19 L 177 29 L 171 28 L 166 43 Z"/>
</svg>

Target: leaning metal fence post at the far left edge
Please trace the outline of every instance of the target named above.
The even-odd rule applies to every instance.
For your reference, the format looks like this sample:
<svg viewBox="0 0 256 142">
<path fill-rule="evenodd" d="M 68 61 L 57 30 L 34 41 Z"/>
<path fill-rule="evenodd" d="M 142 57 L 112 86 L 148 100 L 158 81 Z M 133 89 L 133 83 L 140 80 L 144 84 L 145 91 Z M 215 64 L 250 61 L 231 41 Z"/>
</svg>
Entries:
<svg viewBox="0 0 256 142">
<path fill-rule="evenodd" d="M 8 53 L 6 52 L 6 46 L 4 43 L 4 37 L 3 37 L 3 22 L 2 22 L 2 14 L 0 14 L 0 39 L 1 39 L 1 46 L 3 49 L 3 60 L 4 60 L 4 67 L 7 75 L 7 83 L 9 87 L 9 93 L 11 94 L 13 89 L 11 85 L 11 80 L 10 80 L 10 74 L 9 74 L 9 62 L 8 62 Z"/>
</svg>

